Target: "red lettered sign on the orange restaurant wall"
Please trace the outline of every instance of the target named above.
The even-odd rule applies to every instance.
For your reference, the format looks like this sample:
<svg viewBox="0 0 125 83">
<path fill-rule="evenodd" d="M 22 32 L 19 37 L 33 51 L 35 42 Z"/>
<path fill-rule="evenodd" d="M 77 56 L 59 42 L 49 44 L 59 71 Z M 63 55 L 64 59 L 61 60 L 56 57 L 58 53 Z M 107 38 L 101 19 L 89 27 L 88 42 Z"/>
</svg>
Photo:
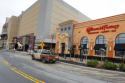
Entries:
<svg viewBox="0 0 125 83">
<path fill-rule="evenodd" d="M 88 34 L 98 34 L 98 33 L 108 33 L 108 32 L 116 32 L 119 28 L 119 25 L 103 25 L 100 27 L 88 27 L 86 29 Z"/>
</svg>

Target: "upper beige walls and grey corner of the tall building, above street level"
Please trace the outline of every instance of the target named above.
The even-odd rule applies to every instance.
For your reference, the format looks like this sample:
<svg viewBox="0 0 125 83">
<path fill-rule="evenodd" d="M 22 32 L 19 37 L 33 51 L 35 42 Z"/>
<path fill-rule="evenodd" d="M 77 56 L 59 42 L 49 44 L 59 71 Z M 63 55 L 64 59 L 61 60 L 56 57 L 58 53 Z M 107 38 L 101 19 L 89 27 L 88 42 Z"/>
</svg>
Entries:
<svg viewBox="0 0 125 83">
<path fill-rule="evenodd" d="M 61 22 L 90 20 L 62 0 L 38 0 L 21 14 L 20 19 L 19 36 L 34 33 L 36 39 L 45 42 L 50 40 Z"/>
</svg>

